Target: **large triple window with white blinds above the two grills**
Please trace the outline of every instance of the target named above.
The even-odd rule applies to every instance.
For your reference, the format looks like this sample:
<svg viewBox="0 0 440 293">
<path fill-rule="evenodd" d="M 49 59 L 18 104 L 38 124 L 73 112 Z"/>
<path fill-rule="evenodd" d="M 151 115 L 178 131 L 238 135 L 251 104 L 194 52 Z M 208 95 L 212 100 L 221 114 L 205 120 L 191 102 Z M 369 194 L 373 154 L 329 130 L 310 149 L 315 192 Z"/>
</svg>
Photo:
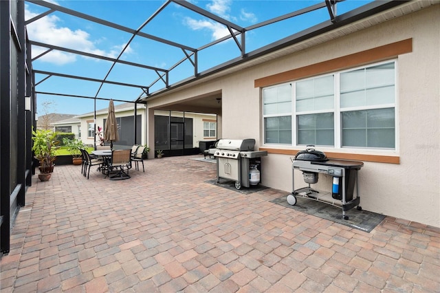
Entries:
<svg viewBox="0 0 440 293">
<path fill-rule="evenodd" d="M 263 89 L 265 143 L 395 149 L 395 65 Z"/>
</svg>

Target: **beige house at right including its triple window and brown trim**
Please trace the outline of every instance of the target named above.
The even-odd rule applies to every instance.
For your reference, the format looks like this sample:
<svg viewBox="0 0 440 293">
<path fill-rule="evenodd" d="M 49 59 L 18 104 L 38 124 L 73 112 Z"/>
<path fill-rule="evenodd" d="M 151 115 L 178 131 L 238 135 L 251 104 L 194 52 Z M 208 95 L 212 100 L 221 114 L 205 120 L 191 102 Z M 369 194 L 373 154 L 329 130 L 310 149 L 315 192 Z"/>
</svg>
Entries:
<svg viewBox="0 0 440 293">
<path fill-rule="evenodd" d="M 440 227 L 439 2 L 402 2 L 323 31 L 146 98 L 147 143 L 155 109 L 220 93 L 217 136 L 254 138 L 268 151 L 263 185 L 291 192 L 290 158 L 315 144 L 364 162 L 364 210 Z"/>
</svg>

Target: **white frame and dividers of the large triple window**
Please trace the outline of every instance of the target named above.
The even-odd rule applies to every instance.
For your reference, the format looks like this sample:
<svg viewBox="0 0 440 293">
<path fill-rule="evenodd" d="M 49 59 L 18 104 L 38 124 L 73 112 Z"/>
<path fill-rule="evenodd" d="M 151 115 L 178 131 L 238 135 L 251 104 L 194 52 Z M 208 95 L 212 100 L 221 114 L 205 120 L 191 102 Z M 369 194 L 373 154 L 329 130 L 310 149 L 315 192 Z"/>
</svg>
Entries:
<svg viewBox="0 0 440 293">
<path fill-rule="evenodd" d="M 344 72 L 351 72 L 357 69 L 365 69 L 368 67 L 374 67 L 377 65 L 384 65 L 386 63 L 394 63 L 394 71 L 395 71 L 395 99 L 393 103 L 388 103 L 388 104 L 384 104 L 384 105 L 373 105 L 373 106 L 361 106 L 361 107 L 349 107 L 349 108 L 343 108 L 341 109 L 340 107 L 340 74 L 344 73 Z M 342 152 L 351 152 L 351 151 L 365 151 L 366 153 L 388 153 L 388 154 L 394 154 L 394 153 L 399 153 L 399 129 L 398 129 L 398 125 L 399 125 L 399 105 L 398 105 L 398 80 L 397 80 L 397 75 L 398 75 L 398 62 L 397 59 L 392 59 L 392 60 L 388 60 L 388 61 L 382 61 L 382 62 L 378 62 L 378 63 L 371 63 L 368 65 L 362 65 L 359 67 L 353 67 L 350 69 L 345 69 L 345 70 L 340 70 L 340 71 L 336 71 L 336 72 L 331 72 L 331 73 L 327 73 L 327 74 L 322 74 L 319 76 L 313 76 L 313 77 L 309 77 L 309 78 L 303 78 L 300 80 L 295 80 L 295 81 L 291 81 L 289 83 L 283 83 L 283 84 L 279 84 L 279 85 L 274 85 L 274 86 L 270 86 L 270 87 L 264 87 L 261 91 L 261 96 L 262 96 L 262 105 L 264 106 L 264 89 L 270 89 L 273 87 L 278 87 L 278 86 L 283 86 L 286 84 L 291 84 L 292 85 L 292 113 L 278 113 L 278 114 L 274 114 L 274 115 L 265 115 L 264 114 L 264 110 L 263 107 L 261 109 L 261 117 L 263 118 L 263 144 L 265 146 L 270 146 L 270 147 L 274 147 L 274 146 L 292 146 L 295 148 L 300 148 L 303 149 L 305 147 L 305 145 L 303 144 L 298 144 L 297 143 L 297 136 L 296 133 L 298 131 L 297 129 L 297 116 L 298 113 L 296 112 L 296 83 L 300 82 L 300 81 L 304 81 L 304 80 L 308 80 L 308 79 L 313 79 L 313 78 L 319 78 L 322 76 L 328 76 L 328 75 L 333 75 L 334 76 L 334 92 L 335 92 L 335 96 L 334 96 L 334 108 L 333 108 L 333 113 L 334 113 L 334 146 L 319 146 L 322 149 L 338 149 L 339 151 Z M 386 109 L 386 108 L 393 108 L 395 109 L 395 125 L 394 125 L 394 129 L 395 129 L 395 147 L 393 149 L 388 149 L 388 148 L 377 148 L 377 147 L 355 147 L 355 146 L 342 146 L 342 117 L 341 117 L 341 113 L 345 112 L 345 111 L 363 111 L 363 110 L 371 110 L 371 109 Z M 300 115 L 305 115 L 305 114 L 315 114 L 315 113 L 328 113 L 328 110 L 315 110 L 315 111 L 302 111 L 300 112 Z M 265 118 L 268 117 L 277 117 L 277 116 L 286 116 L 286 115 L 292 115 L 292 144 L 278 144 L 278 143 L 267 143 L 266 138 L 265 138 Z"/>
</svg>

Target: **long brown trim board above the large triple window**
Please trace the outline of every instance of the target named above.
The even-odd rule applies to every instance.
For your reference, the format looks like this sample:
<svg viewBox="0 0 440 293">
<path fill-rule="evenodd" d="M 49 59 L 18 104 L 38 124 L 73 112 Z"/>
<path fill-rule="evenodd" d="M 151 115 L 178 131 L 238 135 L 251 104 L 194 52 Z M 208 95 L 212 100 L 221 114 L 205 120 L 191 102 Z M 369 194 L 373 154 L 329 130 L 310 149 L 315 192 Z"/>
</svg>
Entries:
<svg viewBox="0 0 440 293">
<path fill-rule="evenodd" d="M 395 58 L 399 56 L 399 54 L 410 52 L 412 52 L 412 39 L 406 39 L 404 41 L 398 41 L 347 56 L 292 69 L 287 72 L 258 78 L 254 80 L 254 87 L 268 87 L 278 83 L 286 83 L 299 78 L 306 78 L 368 63 L 384 61 L 386 59 Z"/>
</svg>

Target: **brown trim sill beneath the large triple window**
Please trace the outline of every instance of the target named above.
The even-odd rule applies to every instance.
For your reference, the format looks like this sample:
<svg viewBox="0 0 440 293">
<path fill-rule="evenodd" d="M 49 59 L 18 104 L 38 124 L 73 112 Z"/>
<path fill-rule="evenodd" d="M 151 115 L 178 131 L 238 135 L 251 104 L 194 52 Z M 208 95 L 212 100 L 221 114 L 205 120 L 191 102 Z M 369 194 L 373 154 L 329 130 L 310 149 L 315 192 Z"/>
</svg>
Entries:
<svg viewBox="0 0 440 293">
<path fill-rule="evenodd" d="M 296 155 L 298 149 L 270 149 L 266 147 L 259 148 L 260 151 L 267 151 L 267 153 L 277 153 L 280 155 Z M 388 164 L 400 164 L 400 157 L 395 155 L 362 155 L 359 153 L 336 153 L 326 151 L 325 155 L 329 159 L 355 160 L 362 162 L 377 162 Z"/>
</svg>

